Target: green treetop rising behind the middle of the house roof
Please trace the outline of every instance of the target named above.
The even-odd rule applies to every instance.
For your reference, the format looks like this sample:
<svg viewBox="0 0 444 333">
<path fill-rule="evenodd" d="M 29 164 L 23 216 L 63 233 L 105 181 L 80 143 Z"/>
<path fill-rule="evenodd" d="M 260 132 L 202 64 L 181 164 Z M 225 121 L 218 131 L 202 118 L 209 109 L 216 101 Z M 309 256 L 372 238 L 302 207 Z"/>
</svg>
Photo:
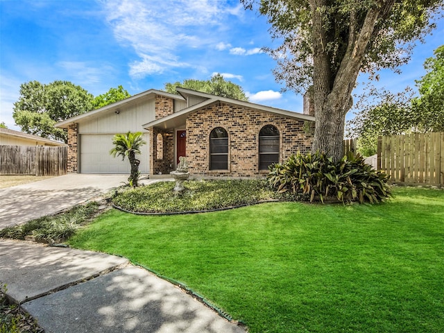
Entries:
<svg viewBox="0 0 444 333">
<path fill-rule="evenodd" d="M 171 94 L 177 94 L 176 87 L 196 90 L 197 92 L 206 92 L 216 96 L 228 97 L 230 99 L 239 99 L 240 101 L 248 101 L 244 89 L 240 85 L 236 85 L 231 81 L 225 80 L 221 74 L 212 76 L 210 80 L 184 80 L 183 83 L 166 83 L 165 91 Z"/>
</svg>

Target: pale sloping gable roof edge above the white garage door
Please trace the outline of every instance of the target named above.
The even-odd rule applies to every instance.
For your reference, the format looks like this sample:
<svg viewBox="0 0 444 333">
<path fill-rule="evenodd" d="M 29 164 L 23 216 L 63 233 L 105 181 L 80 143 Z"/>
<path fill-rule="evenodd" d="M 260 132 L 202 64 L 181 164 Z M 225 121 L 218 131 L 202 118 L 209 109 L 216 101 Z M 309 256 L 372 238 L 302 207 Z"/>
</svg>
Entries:
<svg viewBox="0 0 444 333">
<path fill-rule="evenodd" d="M 146 90 L 145 92 L 141 92 L 134 96 L 128 97 L 128 99 L 122 99 L 121 101 L 118 101 L 116 103 L 105 105 L 102 108 L 85 112 L 83 114 L 79 114 L 78 116 L 69 118 L 65 121 L 60 121 L 60 123 L 56 123 L 55 126 L 58 128 L 68 128 L 68 126 L 71 123 L 76 123 L 80 120 L 86 120 L 88 118 L 96 118 L 100 115 L 107 114 L 110 112 L 116 112 L 120 108 L 126 107 L 132 103 L 137 103 L 137 101 L 139 101 L 140 99 L 151 98 L 154 95 L 161 95 L 169 97 L 171 99 L 178 99 L 180 101 L 185 101 L 185 99 L 180 95 L 170 94 L 169 92 L 162 92 L 162 90 L 149 89 Z"/>
</svg>

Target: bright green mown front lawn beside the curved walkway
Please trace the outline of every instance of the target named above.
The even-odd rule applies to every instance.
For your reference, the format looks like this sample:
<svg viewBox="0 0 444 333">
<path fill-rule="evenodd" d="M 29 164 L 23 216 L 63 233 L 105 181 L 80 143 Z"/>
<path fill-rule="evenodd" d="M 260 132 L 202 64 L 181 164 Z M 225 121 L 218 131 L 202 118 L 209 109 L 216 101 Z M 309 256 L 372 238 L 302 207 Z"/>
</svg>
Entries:
<svg viewBox="0 0 444 333">
<path fill-rule="evenodd" d="M 250 332 L 444 332 L 444 191 L 379 205 L 103 214 L 71 239 L 184 282 Z"/>
</svg>

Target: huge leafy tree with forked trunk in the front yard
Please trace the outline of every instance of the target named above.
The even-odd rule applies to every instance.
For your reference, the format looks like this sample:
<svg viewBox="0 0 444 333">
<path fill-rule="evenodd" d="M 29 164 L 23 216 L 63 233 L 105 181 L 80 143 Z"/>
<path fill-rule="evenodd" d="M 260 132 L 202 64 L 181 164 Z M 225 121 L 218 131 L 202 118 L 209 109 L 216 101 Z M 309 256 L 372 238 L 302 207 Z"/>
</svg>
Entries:
<svg viewBox="0 0 444 333">
<path fill-rule="evenodd" d="M 343 155 L 345 114 L 360 71 L 395 69 L 407 62 L 411 41 L 442 0 L 241 0 L 259 5 L 282 46 L 268 50 L 278 61 L 275 78 L 301 92 L 313 85 L 316 117 L 313 150 L 334 160 Z"/>
</svg>

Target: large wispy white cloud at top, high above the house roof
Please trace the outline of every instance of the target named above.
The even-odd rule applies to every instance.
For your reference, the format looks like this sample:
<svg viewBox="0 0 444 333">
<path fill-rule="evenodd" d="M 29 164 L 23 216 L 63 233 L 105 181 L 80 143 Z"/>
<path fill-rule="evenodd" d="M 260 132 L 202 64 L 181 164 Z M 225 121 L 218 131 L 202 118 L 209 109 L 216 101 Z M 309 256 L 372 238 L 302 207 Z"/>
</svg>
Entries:
<svg viewBox="0 0 444 333">
<path fill-rule="evenodd" d="M 210 27 L 224 26 L 228 15 L 243 15 L 239 5 L 220 0 L 109 0 L 104 7 L 114 37 L 140 57 L 130 63 L 130 75 L 137 78 L 177 67 L 179 54 L 214 45 Z"/>
</svg>

